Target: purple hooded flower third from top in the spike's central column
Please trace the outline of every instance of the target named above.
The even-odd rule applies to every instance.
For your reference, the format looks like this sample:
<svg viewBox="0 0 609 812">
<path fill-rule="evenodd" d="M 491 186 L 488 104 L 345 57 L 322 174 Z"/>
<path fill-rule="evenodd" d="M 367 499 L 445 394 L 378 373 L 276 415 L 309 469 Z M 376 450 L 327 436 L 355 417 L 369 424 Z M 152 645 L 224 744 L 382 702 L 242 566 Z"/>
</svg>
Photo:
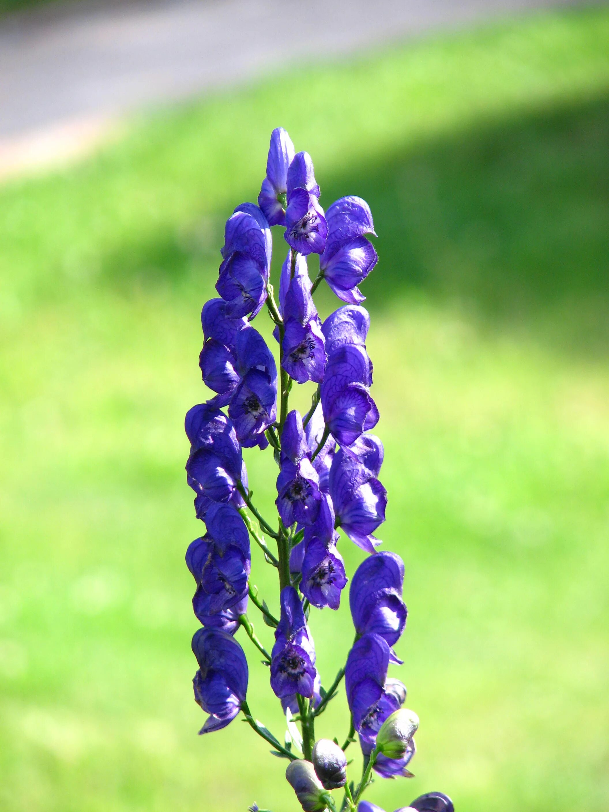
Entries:
<svg viewBox="0 0 609 812">
<path fill-rule="evenodd" d="M 296 410 L 287 415 L 281 445 L 281 470 L 275 500 L 279 516 L 286 527 L 295 521 L 300 525 L 312 525 L 319 513 L 322 493 L 319 477 L 309 459 L 302 417 Z"/>
</svg>

